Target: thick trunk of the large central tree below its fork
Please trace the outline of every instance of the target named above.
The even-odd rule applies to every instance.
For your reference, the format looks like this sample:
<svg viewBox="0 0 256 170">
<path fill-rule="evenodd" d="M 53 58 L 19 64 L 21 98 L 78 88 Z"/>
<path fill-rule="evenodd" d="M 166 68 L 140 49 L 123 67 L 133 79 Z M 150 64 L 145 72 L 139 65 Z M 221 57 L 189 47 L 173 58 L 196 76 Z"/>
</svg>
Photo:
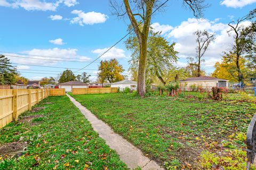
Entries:
<svg viewBox="0 0 256 170">
<path fill-rule="evenodd" d="M 143 37 L 140 44 L 140 59 L 138 69 L 138 94 L 143 97 L 146 92 L 146 60 L 147 60 L 147 37 Z"/>
</svg>

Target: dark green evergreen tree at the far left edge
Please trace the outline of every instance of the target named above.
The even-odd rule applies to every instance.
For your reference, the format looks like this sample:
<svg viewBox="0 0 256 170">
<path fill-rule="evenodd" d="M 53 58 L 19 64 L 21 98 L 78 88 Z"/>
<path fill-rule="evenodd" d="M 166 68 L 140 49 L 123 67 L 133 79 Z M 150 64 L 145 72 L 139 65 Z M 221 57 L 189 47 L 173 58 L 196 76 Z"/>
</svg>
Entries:
<svg viewBox="0 0 256 170">
<path fill-rule="evenodd" d="M 10 60 L 4 55 L 0 55 L 0 84 L 15 84 L 16 70 L 11 65 Z"/>
</svg>

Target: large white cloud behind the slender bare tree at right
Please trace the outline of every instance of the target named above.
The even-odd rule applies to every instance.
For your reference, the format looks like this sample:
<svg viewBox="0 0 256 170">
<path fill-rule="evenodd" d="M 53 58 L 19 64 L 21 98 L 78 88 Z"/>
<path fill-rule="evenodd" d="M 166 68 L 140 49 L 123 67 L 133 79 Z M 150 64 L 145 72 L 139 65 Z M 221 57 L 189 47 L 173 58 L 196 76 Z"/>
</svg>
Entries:
<svg viewBox="0 0 256 170">
<path fill-rule="evenodd" d="M 245 21 L 242 25 L 249 25 L 251 22 Z M 219 20 L 205 20 L 189 18 L 187 21 L 181 22 L 180 25 L 173 28 L 167 35 L 170 41 L 176 43 L 175 50 L 179 52 L 180 57 L 177 66 L 184 66 L 187 57 L 196 56 L 196 37 L 193 32 L 196 30 L 207 30 L 210 33 L 215 32 L 215 41 L 209 45 L 209 49 L 204 55 L 205 62 L 217 62 L 221 60 L 223 52 L 227 52 L 234 39 L 228 36 L 227 30 L 229 26 L 226 23 L 221 23 Z M 214 63 L 212 64 L 214 65 Z"/>
</svg>

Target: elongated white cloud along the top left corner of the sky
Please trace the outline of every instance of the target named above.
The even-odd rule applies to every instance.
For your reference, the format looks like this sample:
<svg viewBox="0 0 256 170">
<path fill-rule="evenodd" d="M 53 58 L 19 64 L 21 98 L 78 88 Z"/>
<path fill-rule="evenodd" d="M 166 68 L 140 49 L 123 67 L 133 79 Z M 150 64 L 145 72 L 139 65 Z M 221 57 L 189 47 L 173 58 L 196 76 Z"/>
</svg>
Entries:
<svg viewBox="0 0 256 170">
<path fill-rule="evenodd" d="M 76 0 L 58 0 L 55 2 L 45 2 L 42 0 L 0 0 L 0 6 L 18 8 L 22 7 L 27 11 L 56 11 L 60 4 L 68 7 L 78 4 Z"/>
</svg>

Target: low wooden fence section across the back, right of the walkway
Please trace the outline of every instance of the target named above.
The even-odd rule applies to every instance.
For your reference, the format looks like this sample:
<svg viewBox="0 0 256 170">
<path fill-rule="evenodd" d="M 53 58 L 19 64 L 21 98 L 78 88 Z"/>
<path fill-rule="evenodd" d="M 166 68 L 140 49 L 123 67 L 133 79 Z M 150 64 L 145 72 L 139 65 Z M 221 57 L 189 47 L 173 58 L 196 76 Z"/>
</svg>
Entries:
<svg viewBox="0 0 256 170">
<path fill-rule="evenodd" d="M 117 92 L 118 88 L 73 88 L 73 95 L 83 94 L 110 94 Z"/>
</svg>

